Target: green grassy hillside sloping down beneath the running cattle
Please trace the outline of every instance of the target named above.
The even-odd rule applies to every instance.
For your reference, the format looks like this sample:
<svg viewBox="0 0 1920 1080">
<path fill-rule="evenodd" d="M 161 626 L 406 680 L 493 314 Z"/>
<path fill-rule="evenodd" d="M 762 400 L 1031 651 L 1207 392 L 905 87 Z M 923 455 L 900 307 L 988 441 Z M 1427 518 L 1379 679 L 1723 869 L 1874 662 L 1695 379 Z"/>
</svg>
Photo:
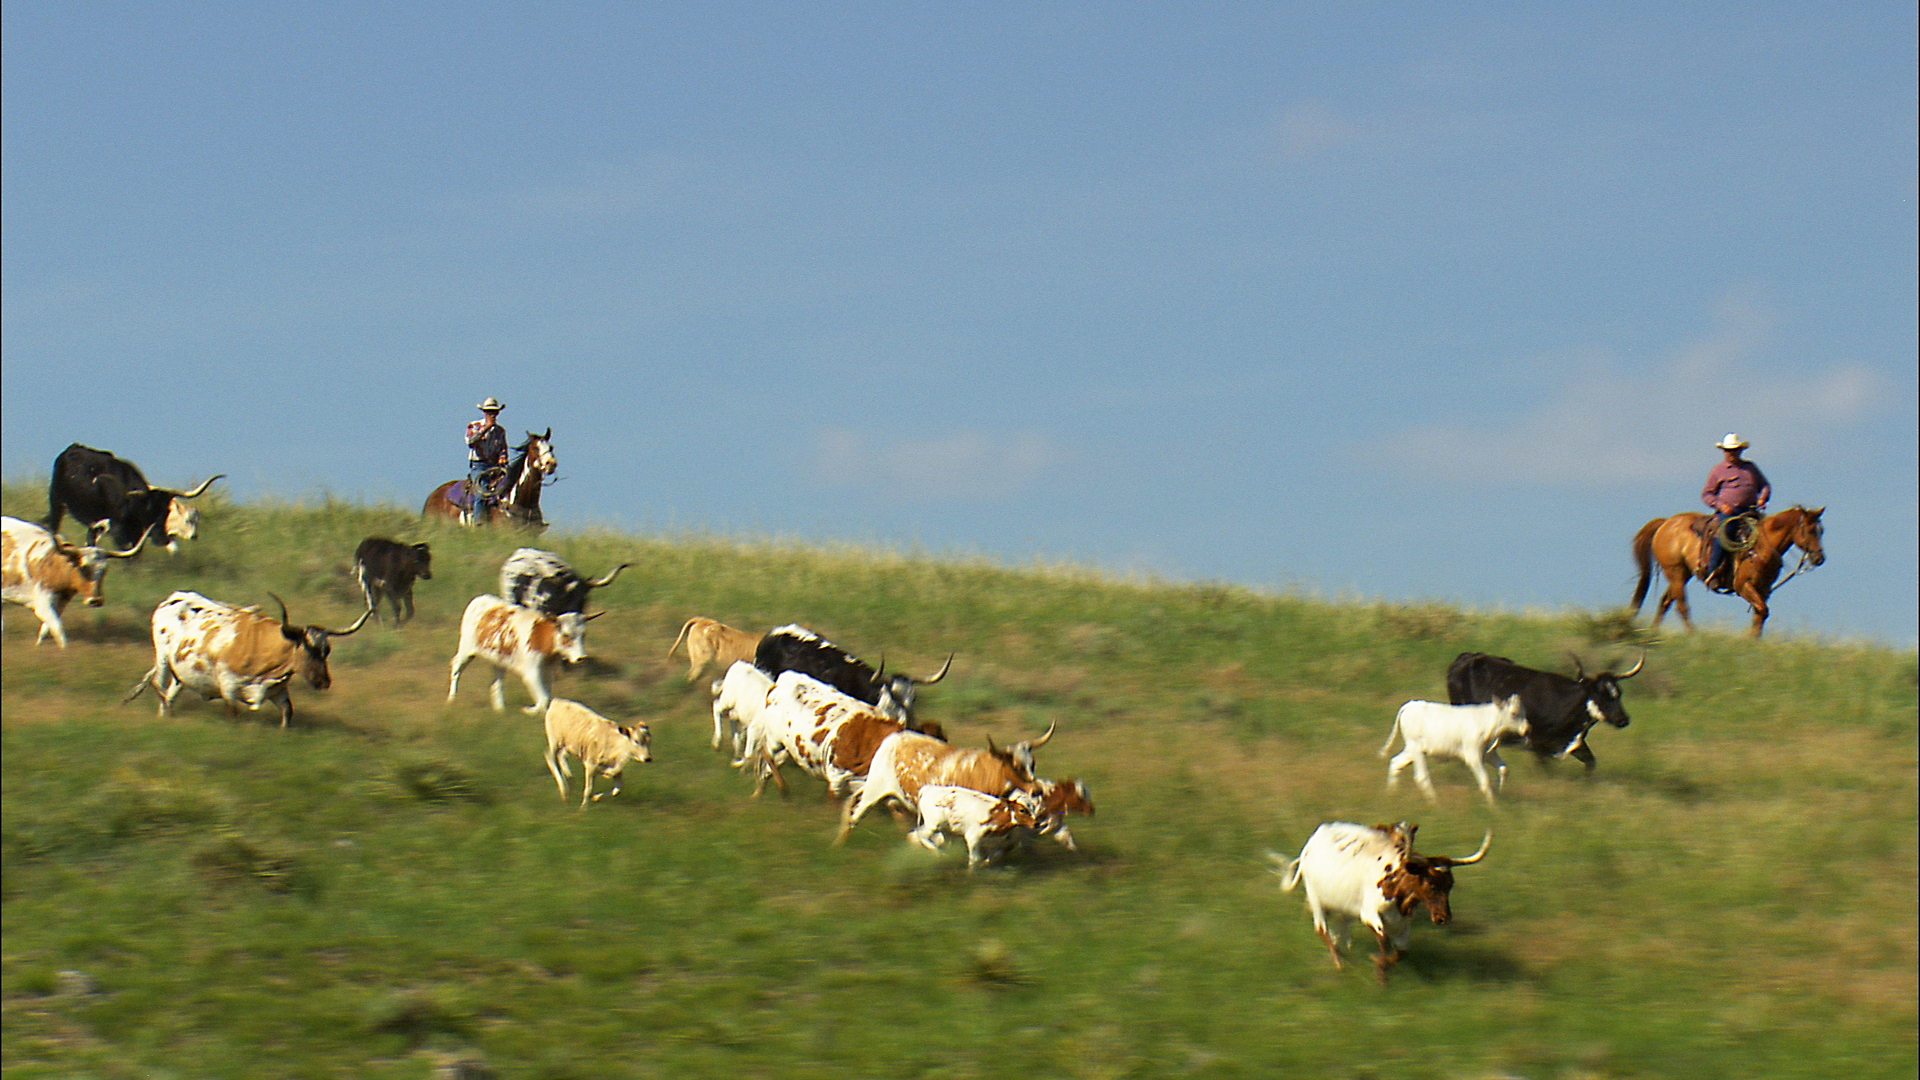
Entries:
<svg viewBox="0 0 1920 1080">
<path fill-rule="evenodd" d="M 6 511 L 38 517 L 33 484 Z M 434 544 L 419 619 L 336 642 L 296 730 L 121 698 L 175 588 L 346 625 L 367 534 Z M 1916 659 L 1860 644 L 1649 640 L 1609 613 L 1334 605 L 856 550 L 547 534 L 599 573 L 588 671 L 559 692 L 645 719 L 655 763 L 584 813 L 540 721 L 445 665 L 511 534 L 394 507 L 207 507 L 180 555 L 115 567 L 73 648 L 4 636 L 8 1076 L 1912 1076 Z M 964 872 L 874 815 L 829 847 L 824 786 L 749 799 L 708 749 L 689 615 L 801 621 L 952 676 L 956 742 L 1058 721 L 1083 853 Z M 1407 698 L 1463 650 L 1630 663 L 1599 769 L 1509 753 L 1386 792 Z M 524 690 L 509 684 L 509 703 Z M 1390 986 L 1336 972 L 1265 849 L 1329 819 L 1471 851 L 1455 922 Z M 1361 938 L 1365 934 L 1361 932 Z"/>
</svg>

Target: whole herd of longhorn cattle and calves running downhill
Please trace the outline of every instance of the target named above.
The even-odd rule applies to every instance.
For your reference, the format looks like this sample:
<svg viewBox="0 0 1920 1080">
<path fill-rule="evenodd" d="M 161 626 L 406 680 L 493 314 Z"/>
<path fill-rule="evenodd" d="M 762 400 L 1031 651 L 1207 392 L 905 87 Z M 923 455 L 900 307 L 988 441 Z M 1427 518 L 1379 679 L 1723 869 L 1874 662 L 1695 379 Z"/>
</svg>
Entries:
<svg viewBox="0 0 1920 1080">
<path fill-rule="evenodd" d="M 60 455 L 44 525 L 4 519 L 4 598 L 33 609 L 46 636 L 65 648 L 61 611 L 73 601 L 100 605 L 102 582 L 115 559 L 140 553 L 156 532 L 173 550 L 198 534 L 198 513 L 184 500 L 207 490 L 219 477 L 192 492 L 154 488 L 132 465 L 104 452 L 71 446 Z M 61 513 L 86 525 L 88 542 L 71 544 L 56 528 Z M 106 544 L 111 540 L 111 546 Z M 611 584 L 626 563 L 588 578 L 564 559 L 534 548 L 516 550 L 499 571 L 499 594 L 476 596 L 461 617 L 459 646 L 449 667 L 447 700 L 459 694 L 461 673 L 484 659 L 493 669 L 492 705 L 505 709 L 505 678 L 526 686 L 528 713 L 545 719 L 545 763 L 568 799 L 572 771 L 584 778 L 580 805 L 620 792 L 620 773 L 630 761 L 651 761 L 645 723 L 614 723 L 580 701 L 553 698 L 553 671 L 586 659 L 588 603 Z M 353 557 L 353 575 L 367 611 L 346 628 L 294 625 L 286 603 L 273 596 L 278 617 L 257 607 L 236 607 L 175 592 L 152 617 L 154 665 L 140 676 L 129 701 L 146 690 L 159 700 L 159 713 L 173 711 L 180 690 L 257 711 L 273 703 L 284 728 L 294 717 L 290 686 L 296 676 L 315 690 L 332 682 L 332 638 L 361 630 L 378 609 L 392 609 L 394 625 L 413 617 L 415 580 L 432 580 L 426 544 L 367 538 Z M 1054 728 L 1000 748 L 958 748 L 937 723 L 916 715 L 918 688 L 939 682 L 952 669 L 952 655 L 925 678 L 874 669 L 812 630 L 787 625 L 766 634 L 735 630 L 712 619 L 689 619 L 668 648 L 685 644 L 693 682 L 703 671 L 720 669 L 712 682 L 712 746 L 730 749 L 732 765 L 753 773 L 758 796 L 772 780 L 787 790 L 787 765 L 828 784 L 841 798 L 835 844 L 876 807 L 899 807 L 916 822 L 908 840 L 939 849 L 958 838 L 968 849 L 968 869 L 1037 838 L 1077 849 L 1068 830 L 1069 815 L 1092 815 L 1087 786 L 1073 778 L 1050 780 L 1037 773 L 1035 751 Z M 1638 675 L 1644 659 L 1624 673 L 1588 675 L 1578 659 L 1574 676 L 1521 667 L 1505 657 L 1461 653 L 1448 669 L 1448 701 L 1407 701 L 1394 717 L 1384 757 L 1394 742 L 1404 749 L 1388 767 L 1392 786 L 1405 767 L 1432 799 L 1428 759 L 1453 757 L 1473 773 L 1480 794 L 1494 801 L 1507 765 L 1503 744 L 1526 746 L 1542 759 L 1572 757 L 1594 769 L 1588 734 L 1599 723 L 1624 728 L 1620 680 Z M 1488 776 L 1488 767 L 1494 774 Z M 612 788 L 593 792 L 595 778 Z M 1436 924 L 1452 917 L 1453 867 L 1486 857 L 1492 834 L 1469 857 L 1423 855 L 1413 849 L 1417 826 L 1327 822 L 1294 859 L 1277 863 L 1283 888 L 1306 886 L 1313 928 L 1342 965 L 1342 945 L 1354 920 L 1373 930 L 1375 959 L 1384 980 L 1400 959 L 1411 915 L 1427 907 Z"/>
</svg>

